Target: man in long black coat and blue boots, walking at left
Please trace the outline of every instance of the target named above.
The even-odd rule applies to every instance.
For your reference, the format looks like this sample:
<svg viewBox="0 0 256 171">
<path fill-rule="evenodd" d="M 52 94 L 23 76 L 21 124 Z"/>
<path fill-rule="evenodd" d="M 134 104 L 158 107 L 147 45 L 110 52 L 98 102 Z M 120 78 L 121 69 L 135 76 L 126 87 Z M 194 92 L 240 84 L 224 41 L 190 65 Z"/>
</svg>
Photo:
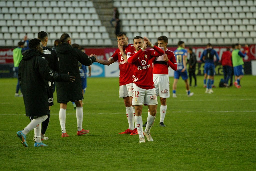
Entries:
<svg viewBox="0 0 256 171">
<path fill-rule="evenodd" d="M 22 61 L 19 64 L 19 80 L 23 89 L 23 99 L 26 108 L 26 116 L 33 116 L 34 119 L 22 131 L 17 132 L 23 145 L 28 147 L 26 135 L 35 128 L 37 137 L 41 135 L 41 123 L 48 118 L 48 81 L 73 82 L 74 77 L 68 74 L 57 74 L 50 69 L 48 62 L 42 58 L 43 48 L 41 40 L 31 39 L 29 48 L 23 53 Z M 47 146 L 42 143 L 41 138 L 37 139 L 35 147 Z"/>
</svg>

